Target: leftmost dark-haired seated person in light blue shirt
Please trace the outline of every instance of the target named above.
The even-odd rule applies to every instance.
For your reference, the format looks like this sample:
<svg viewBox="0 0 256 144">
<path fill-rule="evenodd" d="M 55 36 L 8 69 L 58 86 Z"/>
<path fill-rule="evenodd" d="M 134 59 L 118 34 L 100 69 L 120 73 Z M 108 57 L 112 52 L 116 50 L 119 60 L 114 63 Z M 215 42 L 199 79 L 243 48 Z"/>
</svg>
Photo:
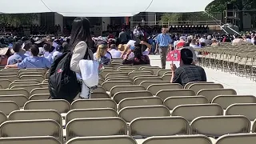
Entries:
<svg viewBox="0 0 256 144">
<path fill-rule="evenodd" d="M 26 58 L 24 54 L 20 53 L 22 50 L 22 45 L 19 42 L 14 42 L 13 50 L 14 54 L 8 58 L 7 65 L 13 65 L 22 62 L 22 60 Z"/>
</svg>

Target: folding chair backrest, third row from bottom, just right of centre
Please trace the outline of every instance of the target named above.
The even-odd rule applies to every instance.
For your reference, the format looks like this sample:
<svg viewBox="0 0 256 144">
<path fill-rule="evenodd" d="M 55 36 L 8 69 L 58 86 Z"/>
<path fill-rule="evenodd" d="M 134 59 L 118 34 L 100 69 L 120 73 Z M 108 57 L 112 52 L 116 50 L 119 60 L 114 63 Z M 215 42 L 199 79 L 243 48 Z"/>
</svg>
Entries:
<svg viewBox="0 0 256 144">
<path fill-rule="evenodd" d="M 127 106 L 122 108 L 118 114 L 126 122 L 141 117 L 165 117 L 170 116 L 170 110 L 166 106 Z"/>
</svg>

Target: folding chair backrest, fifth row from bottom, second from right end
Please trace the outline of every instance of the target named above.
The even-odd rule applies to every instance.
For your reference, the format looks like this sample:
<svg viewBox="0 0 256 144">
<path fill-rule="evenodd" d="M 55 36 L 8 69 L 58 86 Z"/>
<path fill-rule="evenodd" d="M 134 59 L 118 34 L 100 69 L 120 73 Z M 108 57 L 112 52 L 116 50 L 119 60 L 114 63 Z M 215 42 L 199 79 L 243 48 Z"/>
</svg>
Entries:
<svg viewBox="0 0 256 144">
<path fill-rule="evenodd" d="M 176 90 L 160 90 L 158 91 L 159 98 L 165 100 L 166 98 L 173 97 L 173 96 L 194 96 L 195 93 L 193 90 L 190 89 L 176 89 Z"/>
</svg>

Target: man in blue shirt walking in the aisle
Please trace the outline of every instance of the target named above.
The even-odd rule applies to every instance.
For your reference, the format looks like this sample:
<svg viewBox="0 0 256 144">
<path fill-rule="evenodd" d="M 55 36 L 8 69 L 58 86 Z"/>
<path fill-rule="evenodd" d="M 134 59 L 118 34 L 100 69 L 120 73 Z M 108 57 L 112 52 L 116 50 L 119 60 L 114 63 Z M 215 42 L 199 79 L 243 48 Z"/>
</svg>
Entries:
<svg viewBox="0 0 256 144">
<path fill-rule="evenodd" d="M 162 28 L 162 34 L 158 34 L 156 39 L 157 42 L 157 50 L 159 50 L 162 69 L 166 69 L 166 56 L 169 49 L 169 46 L 172 42 L 170 35 L 166 34 L 167 29 Z M 156 50 L 156 51 L 157 51 Z"/>
</svg>

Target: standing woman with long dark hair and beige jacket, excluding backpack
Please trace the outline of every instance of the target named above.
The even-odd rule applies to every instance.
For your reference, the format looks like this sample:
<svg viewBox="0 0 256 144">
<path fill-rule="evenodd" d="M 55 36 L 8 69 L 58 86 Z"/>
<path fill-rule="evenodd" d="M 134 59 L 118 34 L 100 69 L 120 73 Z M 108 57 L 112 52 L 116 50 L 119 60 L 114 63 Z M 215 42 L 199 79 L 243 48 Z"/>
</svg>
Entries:
<svg viewBox="0 0 256 144">
<path fill-rule="evenodd" d="M 90 22 L 87 18 L 75 18 L 72 30 L 69 50 L 73 51 L 70 62 L 70 70 L 80 73 L 79 61 L 82 59 L 94 58 L 93 52 L 87 45 L 90 38 Z M 88 50 L 88 57 L 85 58 Z"/>
</svg>

